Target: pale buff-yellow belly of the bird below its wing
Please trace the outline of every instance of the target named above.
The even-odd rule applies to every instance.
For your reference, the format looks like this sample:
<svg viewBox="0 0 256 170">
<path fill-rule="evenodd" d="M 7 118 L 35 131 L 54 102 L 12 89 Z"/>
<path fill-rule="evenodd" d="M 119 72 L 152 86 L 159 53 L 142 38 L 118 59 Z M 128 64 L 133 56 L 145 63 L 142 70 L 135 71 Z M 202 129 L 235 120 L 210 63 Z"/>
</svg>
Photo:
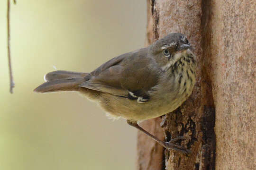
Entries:
<svg viewBox="0 0 256 170">
<path fill-rule="evenodd" d="M 193 84 L 190 85 L 189 89 L 181 91 L 178 89 L 175 93 L 159 92 L 145 103 L 103 93 L 99 105 L 114 119 L 118 117 L 130 120 L 152 119 L 177 109 L 192 93 L 192 88 Z"/>
</svg>

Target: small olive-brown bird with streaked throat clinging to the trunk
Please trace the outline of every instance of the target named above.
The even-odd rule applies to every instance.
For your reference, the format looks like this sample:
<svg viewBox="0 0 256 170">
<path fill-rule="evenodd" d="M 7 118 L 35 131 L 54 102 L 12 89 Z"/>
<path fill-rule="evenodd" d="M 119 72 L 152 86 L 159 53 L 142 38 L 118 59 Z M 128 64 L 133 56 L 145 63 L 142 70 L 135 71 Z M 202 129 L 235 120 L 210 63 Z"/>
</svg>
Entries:
<svg viewBox="0 0 256 170">
<path fill-rule="evenodd" d="M 178 108 L 195 84 L 195 55 L 183 34 L 168 34 L 152 45 L 110 59 L 91 73 L 54 71 L 35 92 L 77 91 L 99 105 L 113 118 L 127 119 L 129 125 L 151 136 L 167 149 L 189 150 L 161 141 L 137 124 Z"/>
</svg>

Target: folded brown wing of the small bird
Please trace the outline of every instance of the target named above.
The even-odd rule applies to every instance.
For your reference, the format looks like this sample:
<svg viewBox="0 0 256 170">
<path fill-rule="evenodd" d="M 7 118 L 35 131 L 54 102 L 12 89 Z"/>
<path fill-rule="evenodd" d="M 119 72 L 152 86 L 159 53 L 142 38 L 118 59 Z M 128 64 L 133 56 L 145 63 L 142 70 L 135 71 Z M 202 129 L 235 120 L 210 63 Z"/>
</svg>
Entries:
<svg viewBox="0 0 256 170">
<path fill-rule="evenodd" d="M 92 77 L 80 86 L 126 97 L 128 92 L 143 96 L 157 84 L 158 73 L 155 60 L 142 50 L 111 59 L 91 72 Z"/>
</svg>

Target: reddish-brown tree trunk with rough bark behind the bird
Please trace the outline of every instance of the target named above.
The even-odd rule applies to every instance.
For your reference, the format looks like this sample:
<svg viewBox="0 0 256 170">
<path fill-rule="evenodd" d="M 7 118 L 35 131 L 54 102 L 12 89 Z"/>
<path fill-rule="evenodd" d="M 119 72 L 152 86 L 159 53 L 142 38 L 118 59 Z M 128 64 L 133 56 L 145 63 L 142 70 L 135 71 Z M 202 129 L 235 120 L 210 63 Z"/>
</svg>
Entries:
<svg viewBox="0 0 256 170">
<path fill-rule="evenodd" d="M 180 144 L 192 153 L 169 152 L 138 132 L 137 170 L 256 167 L 255 4 L 253 0 L 147 0 L 146 45 L 168 33 L 183 33 L 195 48 L 198 67 L 190 98 L 162 121 L 142 123 L 166 141 L 186 136 Z"/>
</svg>

